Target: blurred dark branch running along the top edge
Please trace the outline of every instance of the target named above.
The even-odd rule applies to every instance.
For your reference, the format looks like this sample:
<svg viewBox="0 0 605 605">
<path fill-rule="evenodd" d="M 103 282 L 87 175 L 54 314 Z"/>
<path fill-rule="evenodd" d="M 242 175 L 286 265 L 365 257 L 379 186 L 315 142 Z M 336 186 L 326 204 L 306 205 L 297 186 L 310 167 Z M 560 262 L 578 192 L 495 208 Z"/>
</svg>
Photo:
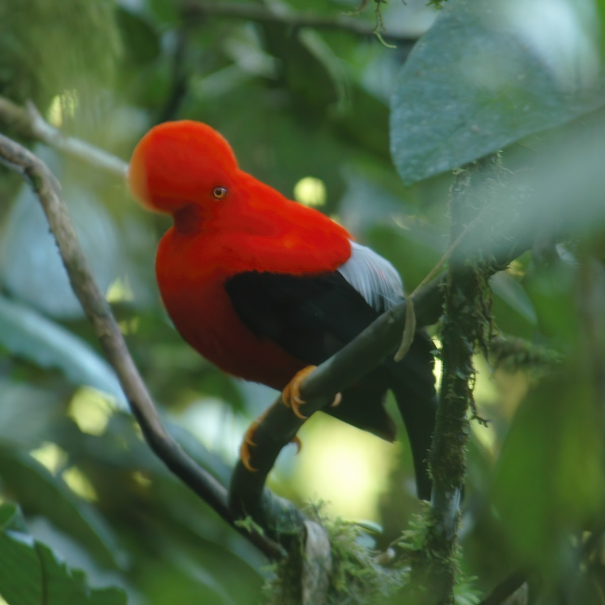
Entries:
<svg viewBox="0 0 605 605">
<path fill-rule="evenodd" d="M 287 27 L 312 27 L 322 30 L 344 31 L 356 36 L 374 36 L 377 26 L 361 19 L 347 15 L 337 17 L 323 17 L 317 15 L 301 15 L 291 11 L 276 11 L 261 4 L 248 2 L 209 2 L 208 0 L 185 0 L 182 4 L 183 14 L 191 17 L 226 17 L 232 19 L 246 19 L 257 23 L 278 23 Z M 382 38 L 390 41 L 414 44 L 417 36 L 409 34 L 382 33 Z"/>
</svg>

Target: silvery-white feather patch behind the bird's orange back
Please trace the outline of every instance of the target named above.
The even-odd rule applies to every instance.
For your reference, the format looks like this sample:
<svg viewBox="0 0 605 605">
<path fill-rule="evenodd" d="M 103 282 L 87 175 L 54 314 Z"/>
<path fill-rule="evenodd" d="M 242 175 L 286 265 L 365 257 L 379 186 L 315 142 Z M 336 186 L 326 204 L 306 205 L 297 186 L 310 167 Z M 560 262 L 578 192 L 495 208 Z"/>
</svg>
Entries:
<svg viewBox="0 0 605 605">
<path fill-rule="evenodd" d="M 404 284 L 395 267 L 354 241 L 351 242 L 351 257 L 338 272 L 378 313 L 384 313 L 404 298 Z"/>
</svg>

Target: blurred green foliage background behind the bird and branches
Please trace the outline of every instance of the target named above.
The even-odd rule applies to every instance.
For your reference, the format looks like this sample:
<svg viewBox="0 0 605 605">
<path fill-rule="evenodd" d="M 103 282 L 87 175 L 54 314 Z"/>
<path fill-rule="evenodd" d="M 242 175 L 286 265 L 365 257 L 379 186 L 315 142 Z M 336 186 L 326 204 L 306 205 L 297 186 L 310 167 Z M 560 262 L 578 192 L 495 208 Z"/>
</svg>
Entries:
<svg viewBox="0 0 605 605">
<path fill-rule="evenodd" d="M 124 159 L 159 121 L 208 122 L 243 169 L 287 196 L 303 178 L 321 181 L 321 209 L 389 258 L 408 290 L 445 251 L 448 171 L 505 147 L 516 190 L 535 206 L 536 246 L 491 280 L 502 332 L 489 359 L 476 358 L 489 424 L 471 427 L 460 568 L 477 580 L 460 583 L 461 605 L 520 567 L 532 603 L 590 605 L 605 590 L 603 6 L 383 3 L 387 34 L 420 35 L 437 16 L 410 53 L 346 31 L 193 18 L 169 0 L 0 0 L 0 94 L 33 100 L 54 125 Z M 356 18 L 373 24 L 373 6 Z M 94 167 L 28 144 L 62 183 L 170 430 L 227 484 L 246 425 L 275 394 L 220 373 L 172 328 L 153 273 L 169 220 Z M 281 602 L 281 576 L 150 453 L 36 200 L 2 167 L 0 199 L 0 596 L 246 605 L 269 579 L 266 602 Z M 318 414 L 301 454 L 286 448 L 270 476 L 299 506 L 333 494 L 330 517 L 378 524 L 333 520 L 363 569 L 374 564 L 367 547 L 387 548 L 420 511 L 401 422 L 399 434 L 389 445 Z M 353 599 L 347 574 L 335 581 Z M 65 592 L 41 601 L 41 581 Z"/>
</svg>

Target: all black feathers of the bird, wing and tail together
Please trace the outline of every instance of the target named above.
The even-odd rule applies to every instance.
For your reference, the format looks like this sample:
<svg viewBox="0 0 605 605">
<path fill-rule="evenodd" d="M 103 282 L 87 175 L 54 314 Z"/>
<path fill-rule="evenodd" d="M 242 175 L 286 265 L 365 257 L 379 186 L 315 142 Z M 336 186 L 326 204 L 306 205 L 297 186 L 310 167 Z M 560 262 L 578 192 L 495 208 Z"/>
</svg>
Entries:
<svg viewBox="0 0 605 605">
<path fill-rule="evenodd" d="M 251 271 L 232 277 L 225 289 L 250 332 L 270 339 L 305 364 L 321 364 L 379 315 L 339 271 L 310 276 Z M 426 460 L 436 410 L 432 348 L 426 335 L 417 335 L 401 362 L 387 359 L 347 388 L 341 405 L 326 410 L 393 440 L 394 423 L 383 405 L 392 388 L 410 437 L 418 493 L 424 499 L 430 497 Z"/>
</svg>

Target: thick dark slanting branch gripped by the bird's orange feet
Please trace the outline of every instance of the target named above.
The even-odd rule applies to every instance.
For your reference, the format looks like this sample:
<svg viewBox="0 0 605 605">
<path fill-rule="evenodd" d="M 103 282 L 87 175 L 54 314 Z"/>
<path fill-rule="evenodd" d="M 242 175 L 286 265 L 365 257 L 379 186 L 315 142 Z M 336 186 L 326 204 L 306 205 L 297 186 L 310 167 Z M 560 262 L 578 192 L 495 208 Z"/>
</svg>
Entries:
<svg viewBox="0 0 605 605">
<path fill-rule="evenodd" d="M 522 215 L 509 223 L 498 221 L 495 224 L 500 229 L 497 237 L 489 231 L 485 233 L 484 224 L 476 224 L 468 232 L 465 241 L 468 247 L 477 249 L 482 246 L 485 249 L 485 242 L 491 244 L 491 272 L 506 269 L 514 258 L 532 245 L 532 234 L 528 228 L 532 223 Z M 515 232 L 517 237 L 511 238 L 509 232 Z M 485 240 L 483 244 L 480 243 L 482 240 Z M 446 273 L 442 273 L 411 296 L 417 327 L 434 324 L 439 319 L 445 281 Z M 336 393 L 394 353 L 405 328 L 407 305 L 407 301 L 401 302 L 381 315 L 364 332 L 309 374 L 301 385 L 301 397 L 306 402 L 304 413 L 307 416 L 328 407 Z M 229 504 L 235 515 L 249 514 L 270 532 L 276 530 L 270 522 L 272 511 L 266 508 L 264 483 L 281 449 L 293 439 L 303 422 L 281 401 L 275 402 L 263 414 L 254 433 L 256 446 L 250 450 L 250 464 L 257 471 L 250 473 L 239 462 L 232 476 Z"/>
</svg>

